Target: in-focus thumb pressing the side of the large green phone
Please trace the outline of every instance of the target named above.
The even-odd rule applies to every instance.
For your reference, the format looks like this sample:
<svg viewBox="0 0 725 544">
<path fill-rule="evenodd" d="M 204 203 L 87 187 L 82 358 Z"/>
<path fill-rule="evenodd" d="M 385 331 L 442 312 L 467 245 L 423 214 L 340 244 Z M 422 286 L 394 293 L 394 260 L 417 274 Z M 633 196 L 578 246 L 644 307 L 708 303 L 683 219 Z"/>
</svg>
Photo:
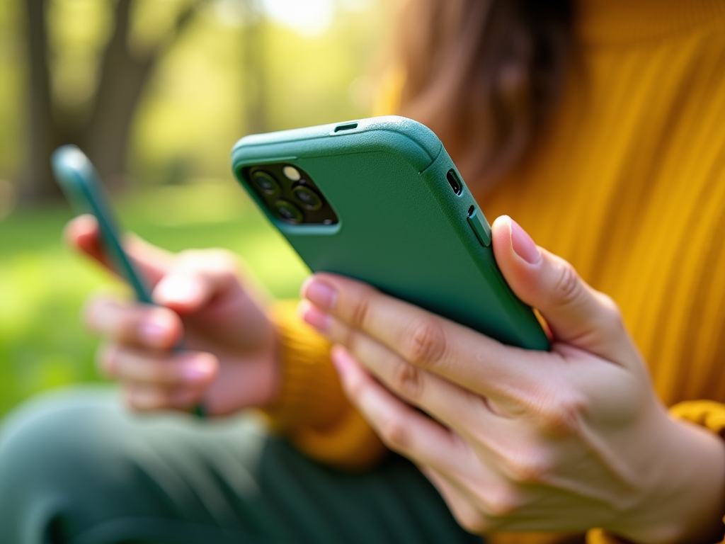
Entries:
<svg viewBox="0 0 725 544">
<path fill-rule="evenodd" d="M 566 260 L 538 247 L 508 215 L 494 221 L 492 239 L 504 278 L 523 302 L 539 310 L 555 342 L 624 363 L 631 340 L 610 297 L 592 289 Z"/>
</svg>

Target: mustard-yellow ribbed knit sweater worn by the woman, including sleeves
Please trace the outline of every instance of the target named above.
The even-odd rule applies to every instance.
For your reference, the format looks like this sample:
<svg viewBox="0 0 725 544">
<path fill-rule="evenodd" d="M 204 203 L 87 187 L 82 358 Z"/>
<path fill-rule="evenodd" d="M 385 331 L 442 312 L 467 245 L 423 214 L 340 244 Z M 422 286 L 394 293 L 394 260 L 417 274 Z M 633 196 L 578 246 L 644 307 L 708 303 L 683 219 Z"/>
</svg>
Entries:
<svg viewBox="0 0 725 544">
<path fill-rule="evenodd" d="M 721 432 L 725 1 L 577 6 L 579 46 L 563 101 L 525 164 L 477 195 L 479 204 L 489 219 L 511 215 L 610 294 L 663 402 Z M 326 342 L 291 306 L 276 316 L 284 379 L 273 421 L 321 461 L 370 463 L 383 447 L 341 395 Z"/>
</svg>

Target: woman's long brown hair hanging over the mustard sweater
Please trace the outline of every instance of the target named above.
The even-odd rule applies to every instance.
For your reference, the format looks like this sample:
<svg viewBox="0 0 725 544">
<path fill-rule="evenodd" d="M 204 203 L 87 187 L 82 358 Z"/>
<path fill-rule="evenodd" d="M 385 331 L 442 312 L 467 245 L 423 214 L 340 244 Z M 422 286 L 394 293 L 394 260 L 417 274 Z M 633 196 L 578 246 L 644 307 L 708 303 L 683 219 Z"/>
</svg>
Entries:
<svg viewBox="0 0 725 544">
<path fill-rule="evenodd" d="M 524 157 L 560 94 L 573 0 L 409 0 L 401 15 L 400 113 L 489 186 Z"/>
</svg>

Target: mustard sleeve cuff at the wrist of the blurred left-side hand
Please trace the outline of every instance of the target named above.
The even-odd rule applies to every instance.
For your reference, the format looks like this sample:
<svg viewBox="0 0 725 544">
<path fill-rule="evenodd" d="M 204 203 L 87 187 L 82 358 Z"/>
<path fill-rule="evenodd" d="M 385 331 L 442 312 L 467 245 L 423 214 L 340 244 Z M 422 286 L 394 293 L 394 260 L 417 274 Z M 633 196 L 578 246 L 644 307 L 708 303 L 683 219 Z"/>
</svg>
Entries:
<svg viewBox="0 0 725 544">
<path fill-rule="evenodd" d="M 386 449 L 345 397 L 329 342 L 297 316 L 296 307 L 297 302 L 284 301 L 271 311 L 279 336 L 281 389 L 262 413 L 273 430 L 311 458 L 343 469 L 368 466 Z"/>
</svg>

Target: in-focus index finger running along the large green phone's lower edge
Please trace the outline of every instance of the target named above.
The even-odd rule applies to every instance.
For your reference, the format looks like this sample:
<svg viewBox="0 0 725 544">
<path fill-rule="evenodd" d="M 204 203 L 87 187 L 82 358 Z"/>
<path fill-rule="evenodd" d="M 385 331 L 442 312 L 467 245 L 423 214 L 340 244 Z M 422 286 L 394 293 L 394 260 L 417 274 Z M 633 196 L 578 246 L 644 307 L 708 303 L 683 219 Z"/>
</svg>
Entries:
<svg viewBox="0 0 725 544">
<path fill-rule="evenodd" d="M 544 377 L 542 361 L 534 359 L 549 354 L 503 345 L 359 281 L 318 273 L 305 281 L 302 296 L 415 366 L 480 395 L 510 398 Z"/>
</svg>

